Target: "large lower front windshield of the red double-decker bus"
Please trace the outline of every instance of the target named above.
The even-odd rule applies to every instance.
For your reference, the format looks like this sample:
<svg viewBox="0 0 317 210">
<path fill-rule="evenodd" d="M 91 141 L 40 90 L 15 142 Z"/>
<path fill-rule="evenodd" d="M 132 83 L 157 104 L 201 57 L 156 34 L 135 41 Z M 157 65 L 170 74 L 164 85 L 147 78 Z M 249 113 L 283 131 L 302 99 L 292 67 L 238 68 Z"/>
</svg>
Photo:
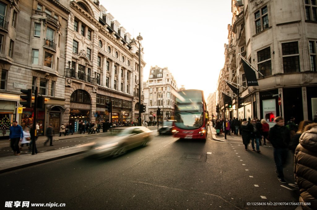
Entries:
<svg viewBox="0 0 317 210">
<path fill-rule="evenodd" d="M 178 112 L 175 114 L 175 120 L 177 120 L 177 122 L 175 122 L 175 126 L 181 129 L 197 129 L 203 125 L 204 114 L 203 112 L 197 111 Z"/>
</svg>

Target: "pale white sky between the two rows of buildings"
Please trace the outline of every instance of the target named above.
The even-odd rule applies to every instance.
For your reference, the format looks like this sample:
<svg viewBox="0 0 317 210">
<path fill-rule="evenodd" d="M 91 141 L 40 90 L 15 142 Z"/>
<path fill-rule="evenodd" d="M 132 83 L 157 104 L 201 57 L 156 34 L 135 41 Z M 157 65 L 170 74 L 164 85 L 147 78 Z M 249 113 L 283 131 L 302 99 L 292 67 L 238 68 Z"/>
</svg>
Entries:
<svg viewBox="0 0 317 210">
<path fill-rule="evenodd" d="M 231 24 L 230 0 L 100 0 L 144 47 L 144 81 L 151 66 L 168 67 L 178 87 L 216 91 Z"/>
</svg>

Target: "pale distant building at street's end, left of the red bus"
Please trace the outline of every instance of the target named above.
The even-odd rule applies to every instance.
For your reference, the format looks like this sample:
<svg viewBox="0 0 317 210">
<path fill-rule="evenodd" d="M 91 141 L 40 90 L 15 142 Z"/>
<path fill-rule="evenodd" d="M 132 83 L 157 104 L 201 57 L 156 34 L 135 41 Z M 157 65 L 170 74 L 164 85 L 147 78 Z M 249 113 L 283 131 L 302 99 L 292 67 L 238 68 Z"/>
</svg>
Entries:
<svg viewBox="0 0 317 210">
<path fill-rule="evenodd" d="M 160 68 L 157 65 L 151 66 L 149 80 L 144 87 L 144 103 L 149 121 L 163 121 L 170 119 L 174 115 L 175 92 L 178 91 L 176 80 L 167 67 Z M 159 116 L 157 109 L 161 109 Z M 164 116 L 164 117 L 163 117 Z"/>
</svg>

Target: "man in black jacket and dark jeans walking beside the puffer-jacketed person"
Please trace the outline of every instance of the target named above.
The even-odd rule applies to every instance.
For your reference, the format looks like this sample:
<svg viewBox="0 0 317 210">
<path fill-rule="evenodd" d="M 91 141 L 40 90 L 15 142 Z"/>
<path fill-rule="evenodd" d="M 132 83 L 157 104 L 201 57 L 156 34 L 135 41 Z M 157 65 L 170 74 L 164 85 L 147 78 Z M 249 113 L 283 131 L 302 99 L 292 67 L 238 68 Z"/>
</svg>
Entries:
<svg viewBox="0 0 317 210">
<path fill-rule="evenodd" d="M 274 161 L 277 170 L 277 179 L 286 184 L 284 180 L 283 167 L 286 164 L 288 156 L 288 144 L 290 142 L 290 133 L 284 126 L 284 118 L 276 117 L 276 124 L 270 128 L 268 139 L 274 147 Z"/>
</svg>

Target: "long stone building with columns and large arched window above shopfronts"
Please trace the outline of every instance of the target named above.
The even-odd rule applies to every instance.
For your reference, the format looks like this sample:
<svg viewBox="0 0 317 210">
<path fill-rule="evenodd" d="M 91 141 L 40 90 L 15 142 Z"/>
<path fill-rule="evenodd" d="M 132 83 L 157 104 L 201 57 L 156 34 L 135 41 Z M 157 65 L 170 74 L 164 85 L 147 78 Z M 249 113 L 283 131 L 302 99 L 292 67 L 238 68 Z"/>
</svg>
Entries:
<svg viewBox="0 0 317 210">
<path fill-rule="evenodd" d="M 65 62 L 63 122 L 107 122 L 106 103 L 112 101 L 112 122 L 139 117 L 139 73 L 143 79 L 143 47 L 99 3 L 70 2 Z M 139 72 L 141 65 L 141 72 Z M 142 89 L 142 83 L 141 83 Z"/>
</svg>

